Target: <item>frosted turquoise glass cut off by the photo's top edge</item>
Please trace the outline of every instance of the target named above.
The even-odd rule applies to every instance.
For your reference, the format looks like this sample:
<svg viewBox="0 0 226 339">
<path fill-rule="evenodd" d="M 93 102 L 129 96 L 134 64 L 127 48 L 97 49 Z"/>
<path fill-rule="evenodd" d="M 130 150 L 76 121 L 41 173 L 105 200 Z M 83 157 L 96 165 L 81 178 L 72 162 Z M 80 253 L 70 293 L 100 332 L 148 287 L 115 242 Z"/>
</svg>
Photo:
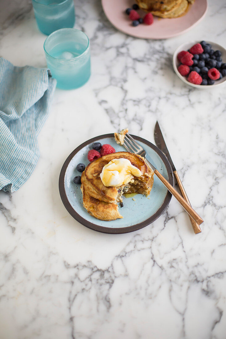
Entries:
<svg viewBox="0 0 226 339">
<path fill-rule="evenodd" d="M 46 35 L 75 24 L 73 0 L 32 0 L 32 4 L 38 28 Z"/>
</svg>

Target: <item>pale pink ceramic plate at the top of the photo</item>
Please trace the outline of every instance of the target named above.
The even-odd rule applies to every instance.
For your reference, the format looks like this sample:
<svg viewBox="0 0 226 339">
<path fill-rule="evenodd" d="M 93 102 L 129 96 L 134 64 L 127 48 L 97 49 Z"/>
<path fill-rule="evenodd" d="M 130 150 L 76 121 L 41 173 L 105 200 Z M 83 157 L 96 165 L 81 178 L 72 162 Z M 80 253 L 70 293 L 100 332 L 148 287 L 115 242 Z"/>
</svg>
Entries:
<svg viewBox="0 0 226 339">
<path fill-rule="evenodd" d="M 163 19 L 154 17 L 154 23 L 150 26 L 140 24 L 133 27 L 129 16 L 125 14 L 128 7 L 132 7 L 135 0 L 101 0 L 103 11 L 108 20 L 119 31 L 142 39 L 167 39 L 180 35 L 204 18 L 208 3 L 207 0 L 196 0 L 189 5 L 188 12 L 176 19 Z M 141 16 L 145 12 L 138 10 Z"/>
</svg>

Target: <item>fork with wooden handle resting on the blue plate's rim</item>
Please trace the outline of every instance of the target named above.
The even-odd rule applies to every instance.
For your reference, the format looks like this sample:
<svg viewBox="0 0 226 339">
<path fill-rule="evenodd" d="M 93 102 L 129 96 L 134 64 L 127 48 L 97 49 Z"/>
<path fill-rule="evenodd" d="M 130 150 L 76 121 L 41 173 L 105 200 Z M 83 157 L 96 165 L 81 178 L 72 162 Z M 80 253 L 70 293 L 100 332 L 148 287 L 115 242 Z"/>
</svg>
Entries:
<svg viewBox="0 0 226 339">
<path fill-rule="evenodd" d="M 203 222 L 203 219 L 193 210 L 193 208 L 187 203 L 187 201 L 173 188 L 172 185 L 162 176 L 161 173 L 146 159 L 145 149 L 131 137 L 130 134 L 125 135 L 124 147 L 130 153 L 135 153 L 145 158 L 146 164 L 151 168 L 154 174 L 158 177 L 159 180 L 166 186 L 167 190 L 176 198 L 176 200 L 182 205 L 185 211 L 190 215 L 190 217 L 200 225 Z"/>
</svg>

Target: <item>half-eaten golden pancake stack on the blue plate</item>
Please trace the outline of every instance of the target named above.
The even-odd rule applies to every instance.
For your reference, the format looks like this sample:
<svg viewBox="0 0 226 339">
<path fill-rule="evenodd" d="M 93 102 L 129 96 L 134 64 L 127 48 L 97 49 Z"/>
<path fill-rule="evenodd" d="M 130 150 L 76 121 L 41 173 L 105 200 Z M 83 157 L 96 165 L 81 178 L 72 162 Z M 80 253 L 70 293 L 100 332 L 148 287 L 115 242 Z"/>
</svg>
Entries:
<svg viewBox="0 0 226 339">
<path fill-rule="evenodd" d="M 128 159 L 142 173 L 131 182 L 119 187 L 106 187 L 100 179 L 103 166 L 113 159 Z M 100 220 L 115 220 L 123 218 L 118 212 L 118 202 L 122 201 L 124 193 L 140 193 L 148 196 L 153 185 L 154 173 L 147 166 L 144 158 L 129 152 L 116 152 L 92 161 L 81 175 L 81 191 L 83 206 L 93 217 Z"/>
</svg>

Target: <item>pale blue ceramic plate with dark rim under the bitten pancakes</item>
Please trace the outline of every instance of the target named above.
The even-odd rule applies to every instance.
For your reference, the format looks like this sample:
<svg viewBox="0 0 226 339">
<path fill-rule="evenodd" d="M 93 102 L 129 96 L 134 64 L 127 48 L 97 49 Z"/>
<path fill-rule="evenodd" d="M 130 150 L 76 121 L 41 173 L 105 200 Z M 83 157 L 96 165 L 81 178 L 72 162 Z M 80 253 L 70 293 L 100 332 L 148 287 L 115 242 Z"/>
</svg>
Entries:
<svg viewBox="0 0 226 339">
<path fill-rule="evenodd" d="M 147 159 L 173 185 L 173 173 L 166 156 L 152 143 L 134 136 L 146 150 Z M 82 205 L 80 185 L 74 184 L 73 179 L 81 175 L 76 170 L 78 163 L 89 164 L 87 154 L 93 142 L 110 144 L 116 152 L 125 151 L 123 146 L 116 144 L 113 134 L 105 134 L 92 138 L 78 146 L 64 162 L 59 177 L 59 191 L 62 202 L 68 212 L 82 225 L 103 233 L 127 233 L 139 230 L 156 220 L 169 205 L 171 194 L 162 182 L 154 176 L 154 184 L 148 198 L 137 194 L 134 199 L 123 197 L 124 207 L 119 206 L 123 219 L 102 221 L 92 217 Z"/>
</svg>

